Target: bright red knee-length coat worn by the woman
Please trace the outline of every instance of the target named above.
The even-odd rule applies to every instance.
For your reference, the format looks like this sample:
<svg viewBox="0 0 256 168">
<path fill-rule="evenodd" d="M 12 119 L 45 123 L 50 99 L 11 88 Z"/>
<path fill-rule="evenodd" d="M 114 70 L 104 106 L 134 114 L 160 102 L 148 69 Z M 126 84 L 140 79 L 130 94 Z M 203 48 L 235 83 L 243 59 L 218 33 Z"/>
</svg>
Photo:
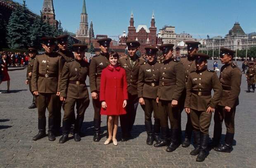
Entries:
<svg viewBox="0 0 256 168">
<path fill-rule="evenodd" d="M 100 101 L 105 101 L 107 108 L 101 108 L 101 115 L 126 114 L 123 101 L 128 99 L 126 71 L 119 67 L 106 67 L 100 80 Z"/>
</svg>

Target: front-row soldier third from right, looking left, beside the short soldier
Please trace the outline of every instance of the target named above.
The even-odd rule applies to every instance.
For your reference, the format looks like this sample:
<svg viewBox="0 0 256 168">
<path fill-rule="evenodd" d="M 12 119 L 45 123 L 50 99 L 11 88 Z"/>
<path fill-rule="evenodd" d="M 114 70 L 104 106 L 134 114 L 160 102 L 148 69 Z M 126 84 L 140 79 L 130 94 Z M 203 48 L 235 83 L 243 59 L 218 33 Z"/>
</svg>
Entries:
<svg viewBox="0 0 256 168">
<path fill-rule="evenodd" d="M 164 55 L 164 63 L 160 69 L 160 81 L 157 91 L 158 108 L 163 140 L 155 147 L 168 145 L 166 151 L 173 152 L 180 145 L 179 142 L 179 99 L 185 88 L 185 70 L 178 60 L 173 58 L 174 44 L 163 44 L 159 48 Z M 171 143 L 167 138 L 168 118 L 171 123 Z"/>
</svg>

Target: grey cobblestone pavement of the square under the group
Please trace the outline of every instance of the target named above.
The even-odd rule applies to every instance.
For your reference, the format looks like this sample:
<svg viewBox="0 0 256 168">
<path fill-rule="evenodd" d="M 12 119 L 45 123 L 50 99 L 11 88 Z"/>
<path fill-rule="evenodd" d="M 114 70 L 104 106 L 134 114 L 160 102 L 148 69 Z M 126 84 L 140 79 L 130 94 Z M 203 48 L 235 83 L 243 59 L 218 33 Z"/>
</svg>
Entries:
<svg viewBox="0 0 256 168">
<path fill-rule="evenodd" d="M 241 64 L 241 62 L 239 62 Z M 209 61 L 211 66 L 211 61 Z M 221 64 L 219 63 L 219 67 Z M 166 147 L 146 145 L 144 113 L 139 107 L 133 139 L 119 141 L 118 146 L 103 145 L 106 138 L 106 117 L 102 119 L 102 139 L 92 141 L 93 108 L 90 104 L 83 123 L 84 137 L 81 142 L 72 138 L 65 144 L 58 140 L 48 141 L 45 137 L 33 141 L 37 130 L 37 110 L 29 110 L 32 97 L 24 84 L 26 69 L 10 71 L 12 93 L 0 94 L 0 168 L 255 168 L 256 167 L 256 93 L 246 93 L 247 83 L 242 76 L 240 105 L 235 118 L 234 150 L 231 154 L 211 150 L 202 163 L 189 153 L 193 149 L 178 147 L 175 152 L 166 152 Z M 88 82 L 88 81 L 87 81 Z M 0 92 L 6 90 L 6 82 L 0 85 Z M 182 114 L 182 128 L 186 116 Z M 225 127 L 223 125 L 223 127 Z M 225 129 L 223 129 L 225 133 Z M 119 140 L 121 130 L 119 128 Z M 213 121 L 210 136 L 213 135 Z"/>
</svg>

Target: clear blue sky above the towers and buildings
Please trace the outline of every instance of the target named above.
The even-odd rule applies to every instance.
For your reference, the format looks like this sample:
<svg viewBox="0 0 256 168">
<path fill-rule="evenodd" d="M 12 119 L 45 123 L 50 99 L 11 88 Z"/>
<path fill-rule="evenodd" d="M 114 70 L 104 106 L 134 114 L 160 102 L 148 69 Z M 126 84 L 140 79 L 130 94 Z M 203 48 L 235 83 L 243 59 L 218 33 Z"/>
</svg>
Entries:
<svg viewBox="0 0 256 168">
<path fill-rule="evenodd" d="M 22 3 L 22 0 L 16 0 Z M 133 11 L 135 26 L 150 27 L 154 10 L 156 27 L 175 26 L 176 33 L 187 32 L 195 38 L 228 33 L 239 21 L 245 33 L 256 32 L 255 0 L 85 0 L 88 22 L 92 20 L 95 35 L 122 34 Z M 76 32 L 83 0 L 53 0 L 56 19 L 64 29 Z M 26 0 L 27 7 L 39 14 L 43 0 Z"/>
</svg>

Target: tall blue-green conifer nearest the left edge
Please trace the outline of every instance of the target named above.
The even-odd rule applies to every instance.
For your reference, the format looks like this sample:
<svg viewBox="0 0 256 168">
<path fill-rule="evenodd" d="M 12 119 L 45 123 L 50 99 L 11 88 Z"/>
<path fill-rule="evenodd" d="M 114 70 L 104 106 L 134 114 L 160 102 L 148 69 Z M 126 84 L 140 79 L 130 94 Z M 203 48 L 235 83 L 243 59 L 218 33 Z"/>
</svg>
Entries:
<svg viewBox="0 0 256 168">
<path fill-rule="evenodd" d="M 7 41 L 10 48 L 27 48 L 30 44 L 29 39 L 29 20 L 26 2 L 23 1 L 22 7 L 18 7 L 12 12 L 7 25 Z"/>
</svg>

